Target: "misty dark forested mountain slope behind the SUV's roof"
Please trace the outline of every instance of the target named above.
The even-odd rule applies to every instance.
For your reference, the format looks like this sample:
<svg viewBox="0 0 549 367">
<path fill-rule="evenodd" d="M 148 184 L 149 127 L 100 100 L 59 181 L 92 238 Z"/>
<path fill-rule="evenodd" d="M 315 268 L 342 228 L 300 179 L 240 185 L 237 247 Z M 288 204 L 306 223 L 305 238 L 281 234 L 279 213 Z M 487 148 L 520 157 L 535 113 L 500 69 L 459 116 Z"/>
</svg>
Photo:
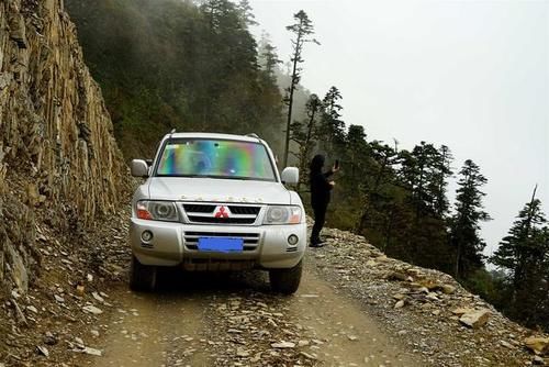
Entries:
<svg viewBox="0 0 549 367">
<path fill-rule="evenodd" d="M 67 0 L 126 158 L 171 129 L 282 135 L 282 97 L 232 1 Z"/>
</svg>

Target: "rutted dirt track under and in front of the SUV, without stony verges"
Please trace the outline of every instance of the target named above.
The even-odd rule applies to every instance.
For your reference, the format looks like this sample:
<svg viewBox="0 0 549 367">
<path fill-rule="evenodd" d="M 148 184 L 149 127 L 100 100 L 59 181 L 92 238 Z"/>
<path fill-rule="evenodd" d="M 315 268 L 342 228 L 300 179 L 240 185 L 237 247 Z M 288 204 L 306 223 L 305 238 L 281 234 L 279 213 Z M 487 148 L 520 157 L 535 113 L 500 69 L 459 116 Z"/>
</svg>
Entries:
<svg viewBox="0 0 549 367">
<path fill-rule="evenodd" d="M 170 271 L 161 283 L 111 293 L 116 310 L 94 366 L 422 365 L 311 270 L 293 297 L 271 293 L 260 271 Z"/>
</svg>

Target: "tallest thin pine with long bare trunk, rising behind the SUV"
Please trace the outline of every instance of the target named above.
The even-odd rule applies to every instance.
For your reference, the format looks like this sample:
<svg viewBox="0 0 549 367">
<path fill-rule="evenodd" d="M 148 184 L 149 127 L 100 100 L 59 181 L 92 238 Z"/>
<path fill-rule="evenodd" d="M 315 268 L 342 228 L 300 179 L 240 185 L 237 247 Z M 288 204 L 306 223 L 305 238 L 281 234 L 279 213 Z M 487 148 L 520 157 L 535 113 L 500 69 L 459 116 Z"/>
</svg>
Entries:
<svg viewBox="0 0 549 367">
<path fill-rule="evenodd" d="M 288 25 L 285 29 L 292 32 L 295 35 L 295 38 L 292 40 L 293 54 L 290 58 L 292 63 L 292 77 L 290 81 L 290 87 L 288 88 L 288 96 L 285 98 L 285 103 L 288 104 L 288 118 L 285 124 L 285 144 L 284 144 L 284 158 L 283 158 L 283 167 L 288 165 L 288 154 L 290 149 L 290 135 L 291 135 L 291 124 L 292 124 L 292 111 L 293 111 L 293 93 L 298 88 L 298 85 L 301 80 L 301 73 L 303 69 L 300 67 L 300 64 L 303 64 L 305 60 L 303 59 L 303 47 L 306 43 L 313 42 L 320 44 L 318 41 L 311 38 L 310 36 L 314 34 L 313 22 L 309 19 L 309 15 L 300 10 L 298 13 L 293 15 L 295 23 Z"/>
</svg>

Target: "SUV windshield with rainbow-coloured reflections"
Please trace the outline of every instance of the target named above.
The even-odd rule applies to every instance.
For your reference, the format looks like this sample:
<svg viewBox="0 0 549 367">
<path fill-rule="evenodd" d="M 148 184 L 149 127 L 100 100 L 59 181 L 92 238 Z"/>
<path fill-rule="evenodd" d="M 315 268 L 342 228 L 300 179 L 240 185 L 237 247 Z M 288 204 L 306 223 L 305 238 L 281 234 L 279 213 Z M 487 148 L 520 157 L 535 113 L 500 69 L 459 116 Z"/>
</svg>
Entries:
<svg viewBox="0 0 549 367">
<path fill-rule="evenodd" d="M 168 141 L 156 176 L 276 180 L 265 145 L 205 138 Z"/>
</svg>

